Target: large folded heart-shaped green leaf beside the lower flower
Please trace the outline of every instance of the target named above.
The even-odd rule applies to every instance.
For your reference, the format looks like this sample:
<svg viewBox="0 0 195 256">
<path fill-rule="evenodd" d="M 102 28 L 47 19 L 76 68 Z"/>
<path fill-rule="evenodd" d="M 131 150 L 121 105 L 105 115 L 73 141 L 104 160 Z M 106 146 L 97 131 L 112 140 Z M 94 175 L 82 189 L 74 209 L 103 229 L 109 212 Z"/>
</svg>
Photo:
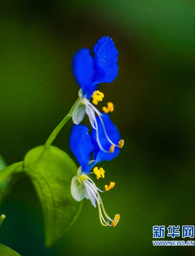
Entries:
<svg viewBox="0 0 195 256">
<path fill-rule="evenodd" d="M 24 158 L 24 171 L 32 179 L 42 205 L 45 245 L 49 248 L 72 225 L 82 203 L 71 195 L 71 180 L 78 167 L 55 146 L 38 146 Z"/>
</svg>

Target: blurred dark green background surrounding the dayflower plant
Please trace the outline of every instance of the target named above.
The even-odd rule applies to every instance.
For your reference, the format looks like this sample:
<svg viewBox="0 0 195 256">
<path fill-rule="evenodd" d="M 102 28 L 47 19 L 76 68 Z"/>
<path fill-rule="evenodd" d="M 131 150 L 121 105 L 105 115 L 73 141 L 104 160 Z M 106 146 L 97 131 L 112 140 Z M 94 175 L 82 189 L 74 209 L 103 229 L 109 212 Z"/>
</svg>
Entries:
<svg viewBox="0 0 195 256">
<path fill-rule="evenodd" d="M 165 238 L 183 239 L 182 225 L 195 215 L 195 3 L 192 0 L 3 0 L 0 4 L 0 153 L 6 163 L 23 160 L 45 143 L 77 99 L 72 54 L 110 36 L 119 52 L 119 74 L 101 84 L 99 110 L 110 114 L 125 144 L 99 167 L 116 183 L 102 194 L 113 229 L 99 222 L 85 200 L 80 216 L 48 250 L 40 204 L 30 180 L 20 179 L 0 208 L 6 219 L 0 243 L 31 255 L 194 255 L 193 246 L 153 246 L 152 226 Z M 85 124 L 89 124 L 87 118 Z M 68 147 L 72 121 L 54 145 Z M 167 237 L 169 225 L 180 236 Z"/>
</svg>

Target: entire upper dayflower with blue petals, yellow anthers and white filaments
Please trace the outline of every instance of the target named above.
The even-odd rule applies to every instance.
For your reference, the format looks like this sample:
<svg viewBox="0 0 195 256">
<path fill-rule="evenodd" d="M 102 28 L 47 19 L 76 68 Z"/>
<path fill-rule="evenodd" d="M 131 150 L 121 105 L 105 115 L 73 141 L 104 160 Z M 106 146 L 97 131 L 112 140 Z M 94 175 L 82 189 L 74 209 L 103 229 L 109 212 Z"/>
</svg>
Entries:
<svg viewBox="0 0 195 256">
<path fill-rule="evenodd" d="M 72 121 L 76 125 L 80 124 L 86 113 L 89 117 L 92 128 L 96 130 L 96 141 L 98 146 L 102 151 L 106 152 L 98 139 L 98 129 L 102 126 L 104 134 L 112 146 L 107 149 L 107 152 L 109 152 L 109 150 L 113 150 L 114 147 L 118 146 L 118 142 L 117 144 L 113 143 L 107 135 L 107 131 L 101 117 L 102 114 L 93 104 L 97 105 L 104 97 L 104 94 L 98 90 L 98 84 L 103 82 L 110 83 L 118 74 L 118 51 L 110 37 L 105 38 L 105 36 L 103 36 L 95 44 L 93 52 L 95 54 L 94 58 L 92 57 L 90 50 L 87 48 L 82 48 L 73 55 L 72 71 L 75 80 L 81 89 L 78 93 L 80 100 L 77 102 L 72 112 Z M 92 99 L 93 104 L 90 102 L 90 99 Z M 103 107 L 103 111 L 105 113 L 112 112 L 113 110 L 114 106 L 112 102 L 108 102 L 107 107 Z M 97 113 L 99 117 L 99 123 L 97 122 L 95 113 Z"/>
</svg>

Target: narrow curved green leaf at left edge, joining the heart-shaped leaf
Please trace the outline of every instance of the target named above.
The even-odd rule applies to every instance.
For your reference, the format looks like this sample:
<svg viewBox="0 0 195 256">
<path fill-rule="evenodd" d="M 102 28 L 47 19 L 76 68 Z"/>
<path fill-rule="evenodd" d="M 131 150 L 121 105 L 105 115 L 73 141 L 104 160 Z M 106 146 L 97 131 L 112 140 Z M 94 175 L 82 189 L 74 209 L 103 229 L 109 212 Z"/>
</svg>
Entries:
<svg viewBox="0 0 195 256">
<path fill-rule="evenodd" d="M 0 203 L 16 181 L 19 173 L 23 172 L 23 162 L 11 164 L 0 171 Z"/>
</svg>

